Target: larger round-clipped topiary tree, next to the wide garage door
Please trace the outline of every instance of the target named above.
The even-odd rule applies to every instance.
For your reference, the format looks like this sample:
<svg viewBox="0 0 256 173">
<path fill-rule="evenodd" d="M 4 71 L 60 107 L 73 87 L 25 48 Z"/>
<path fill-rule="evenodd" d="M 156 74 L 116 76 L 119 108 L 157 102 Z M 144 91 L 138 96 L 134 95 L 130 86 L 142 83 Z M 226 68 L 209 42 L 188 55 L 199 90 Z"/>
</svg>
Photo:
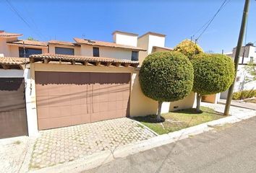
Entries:
<svg viewBox="0 0 256 173">
<path fill-rule="evenodd" d="M 140 68 L 140 86 L 145 96 L 158 101 L 158 121 L 163 102 L 174 102 L 190 94 L 193 73 L 192 63 L 182 53 L 158 52 L 145 58 Z"/>
</svg>

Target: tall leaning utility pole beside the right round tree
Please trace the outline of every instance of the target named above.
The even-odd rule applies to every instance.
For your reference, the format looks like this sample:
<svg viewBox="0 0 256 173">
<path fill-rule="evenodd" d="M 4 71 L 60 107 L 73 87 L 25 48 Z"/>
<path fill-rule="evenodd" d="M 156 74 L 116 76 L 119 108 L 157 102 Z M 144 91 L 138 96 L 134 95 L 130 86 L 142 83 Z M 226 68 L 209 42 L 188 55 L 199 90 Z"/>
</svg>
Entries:
<svg viewBox="0 0 256 173">
<path fill-rule="evenodd" d="M 248 9 L 249 9 L 249 0 L 245 0 L 242 24 L 241 24 L 239 38 L 238 38 L 238 42 L 237 42 L 237 46 L 236 46 L 236 55 L 234 58 L 235 79 L 236 79 L 236 71 L 237 71 L 238 64 L 239 64 L 240 50 L 241 50 L 242 42 L 243 42 L 243 38 L 244 38 L 244 29 L 245 29 L 245 25 L 247 23 Z M 229 108 L 231 105 L 231 99 L 232 99 L 235 82 L 236 82 L 236 80 L 234 80 L 233 84 L 231 84 L 231 86 L 229 87 L 229 94 L 228 94 L 228 98 L 226 99 L 226 107 L 225 107 L 224 115 L 229 115 Z"/>
</svg>

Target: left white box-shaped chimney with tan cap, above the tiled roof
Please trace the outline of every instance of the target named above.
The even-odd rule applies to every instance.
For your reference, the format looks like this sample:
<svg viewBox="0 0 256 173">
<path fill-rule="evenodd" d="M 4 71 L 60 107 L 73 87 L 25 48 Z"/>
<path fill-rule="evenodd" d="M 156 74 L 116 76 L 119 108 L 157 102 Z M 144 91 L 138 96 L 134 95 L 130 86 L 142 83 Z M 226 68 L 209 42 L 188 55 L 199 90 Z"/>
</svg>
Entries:
<svg viewBox="0 0 256 173">
<path fill-rule="evenodd" d="M 112 33 L 114 43 L 120 45 L 131 45 L 137 47 L 137 34 L 116 30 Z"/>
</svg>

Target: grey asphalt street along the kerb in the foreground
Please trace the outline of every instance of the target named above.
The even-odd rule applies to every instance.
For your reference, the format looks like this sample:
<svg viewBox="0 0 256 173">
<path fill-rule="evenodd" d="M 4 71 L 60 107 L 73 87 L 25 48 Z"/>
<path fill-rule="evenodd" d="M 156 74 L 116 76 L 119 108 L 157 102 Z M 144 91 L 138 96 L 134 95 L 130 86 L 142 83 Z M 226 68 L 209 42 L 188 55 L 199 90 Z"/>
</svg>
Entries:
<svg viewBox="0 0 256 173">
<path fill-rule="evenodd" d="M 256 117 L 86 170 L 114 172 L 256 172 Z"/>
</svg>

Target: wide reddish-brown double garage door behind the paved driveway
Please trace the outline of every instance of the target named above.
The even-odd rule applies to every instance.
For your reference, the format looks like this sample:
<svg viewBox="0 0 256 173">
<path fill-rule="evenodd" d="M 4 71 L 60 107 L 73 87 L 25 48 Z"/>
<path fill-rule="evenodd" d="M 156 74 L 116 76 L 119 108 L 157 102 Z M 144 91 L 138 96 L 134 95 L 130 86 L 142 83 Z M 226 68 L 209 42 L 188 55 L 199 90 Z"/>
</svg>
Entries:
<svg viewBox="0 0 256 173">
<path fill-rule="evenodd" d="M 35 72 L 39 130 L 129 116 L 130 74 Z"/>
</svg>

